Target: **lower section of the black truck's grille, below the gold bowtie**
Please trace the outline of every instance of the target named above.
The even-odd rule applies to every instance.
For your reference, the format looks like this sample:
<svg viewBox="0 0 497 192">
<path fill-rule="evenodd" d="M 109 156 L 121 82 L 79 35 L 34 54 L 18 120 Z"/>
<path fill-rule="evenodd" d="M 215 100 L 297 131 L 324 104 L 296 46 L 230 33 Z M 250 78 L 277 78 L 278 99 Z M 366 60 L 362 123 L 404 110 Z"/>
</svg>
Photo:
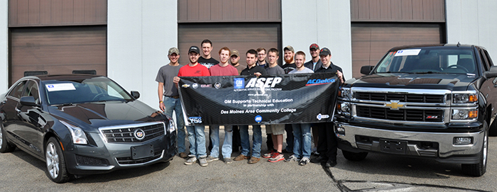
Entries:
<svg viewBox="0 0 497 192">
<path fill-rule="evenodd" d="M 444 111 L 422 109 L 399 109 L 357 106 L 357 116 L 363 118 L 376 118 L 386 120 L 442 122 Z"/>
</svg>

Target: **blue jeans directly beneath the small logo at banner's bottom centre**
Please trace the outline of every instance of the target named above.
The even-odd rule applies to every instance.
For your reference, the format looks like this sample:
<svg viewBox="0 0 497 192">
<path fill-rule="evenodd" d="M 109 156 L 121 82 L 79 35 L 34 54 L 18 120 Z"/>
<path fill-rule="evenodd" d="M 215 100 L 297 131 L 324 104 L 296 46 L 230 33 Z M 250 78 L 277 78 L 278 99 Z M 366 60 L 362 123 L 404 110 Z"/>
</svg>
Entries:
<svg viewBox="0 0 497 192">
<path fill-rule="evenodd" d="M 261 158 L 261 143 L 262 132 L 261 125 L 252 125 L 253 141 L 252 141 L 252 157 Z M 240 142 L 241 154 L 249 156 L 250 152 L 250 137 L 249 125 L 240 125 Z"/>
</svg>

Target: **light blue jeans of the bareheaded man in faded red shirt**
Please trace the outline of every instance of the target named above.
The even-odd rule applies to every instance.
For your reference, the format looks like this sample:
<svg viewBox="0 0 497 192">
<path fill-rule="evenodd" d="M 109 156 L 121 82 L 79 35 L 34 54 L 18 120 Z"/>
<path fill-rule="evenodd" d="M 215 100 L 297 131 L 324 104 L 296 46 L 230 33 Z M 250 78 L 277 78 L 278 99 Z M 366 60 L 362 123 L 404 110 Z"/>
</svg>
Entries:
<svg viewBox="0 0 497 192">
<path fill-rule="evenodd" d="M 212 135 L 211 157 L 219 157 L 219 125 L 210 125 Z M 224 142 L 222 147 L 222 154 L 224 158 L 231 157 L 231 146 L 233 145 L 233 126 L 224 125 Z"/>
</svg>

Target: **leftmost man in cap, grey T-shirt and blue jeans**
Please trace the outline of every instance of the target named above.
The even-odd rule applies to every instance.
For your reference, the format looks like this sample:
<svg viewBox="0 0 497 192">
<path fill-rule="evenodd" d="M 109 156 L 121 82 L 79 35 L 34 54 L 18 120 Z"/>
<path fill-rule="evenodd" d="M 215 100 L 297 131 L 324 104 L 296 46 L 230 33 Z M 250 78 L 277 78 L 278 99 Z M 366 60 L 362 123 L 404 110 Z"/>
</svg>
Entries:
<svg viewBox="0 0 497 192">
<path fill-rule="evenodd" d="M 181 64 L 180 51 L 176 47 L 171 47 L 168 52 L 169 64 L 160 67 L 155 81 L 159 83 L 159 108 L 166 115 L 173 117 L 173 111 L 176 113 L 176 125 L 178 126 L 178 153 L 181 158 L 187 157 L 185 147 L 185 120 L 183 119 L 183 111 L 181 110 L 181 100 L 178 94 L 178 88 L 173 82 L 173 78 L 180 72 Z"/>
</svg>

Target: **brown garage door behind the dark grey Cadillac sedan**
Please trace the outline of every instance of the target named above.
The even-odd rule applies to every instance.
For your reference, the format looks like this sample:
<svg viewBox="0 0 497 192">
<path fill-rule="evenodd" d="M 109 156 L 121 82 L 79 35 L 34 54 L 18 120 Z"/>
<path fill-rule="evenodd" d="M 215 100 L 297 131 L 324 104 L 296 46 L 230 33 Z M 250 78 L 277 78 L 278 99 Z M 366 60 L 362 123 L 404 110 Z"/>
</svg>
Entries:
<svg viewBox="0 0 497 192">
<path fill-rule="evenodd" d="M 24 72 L 107 75 L 107 27 L 11 28 L 9 84 Z"/>
</svg>

